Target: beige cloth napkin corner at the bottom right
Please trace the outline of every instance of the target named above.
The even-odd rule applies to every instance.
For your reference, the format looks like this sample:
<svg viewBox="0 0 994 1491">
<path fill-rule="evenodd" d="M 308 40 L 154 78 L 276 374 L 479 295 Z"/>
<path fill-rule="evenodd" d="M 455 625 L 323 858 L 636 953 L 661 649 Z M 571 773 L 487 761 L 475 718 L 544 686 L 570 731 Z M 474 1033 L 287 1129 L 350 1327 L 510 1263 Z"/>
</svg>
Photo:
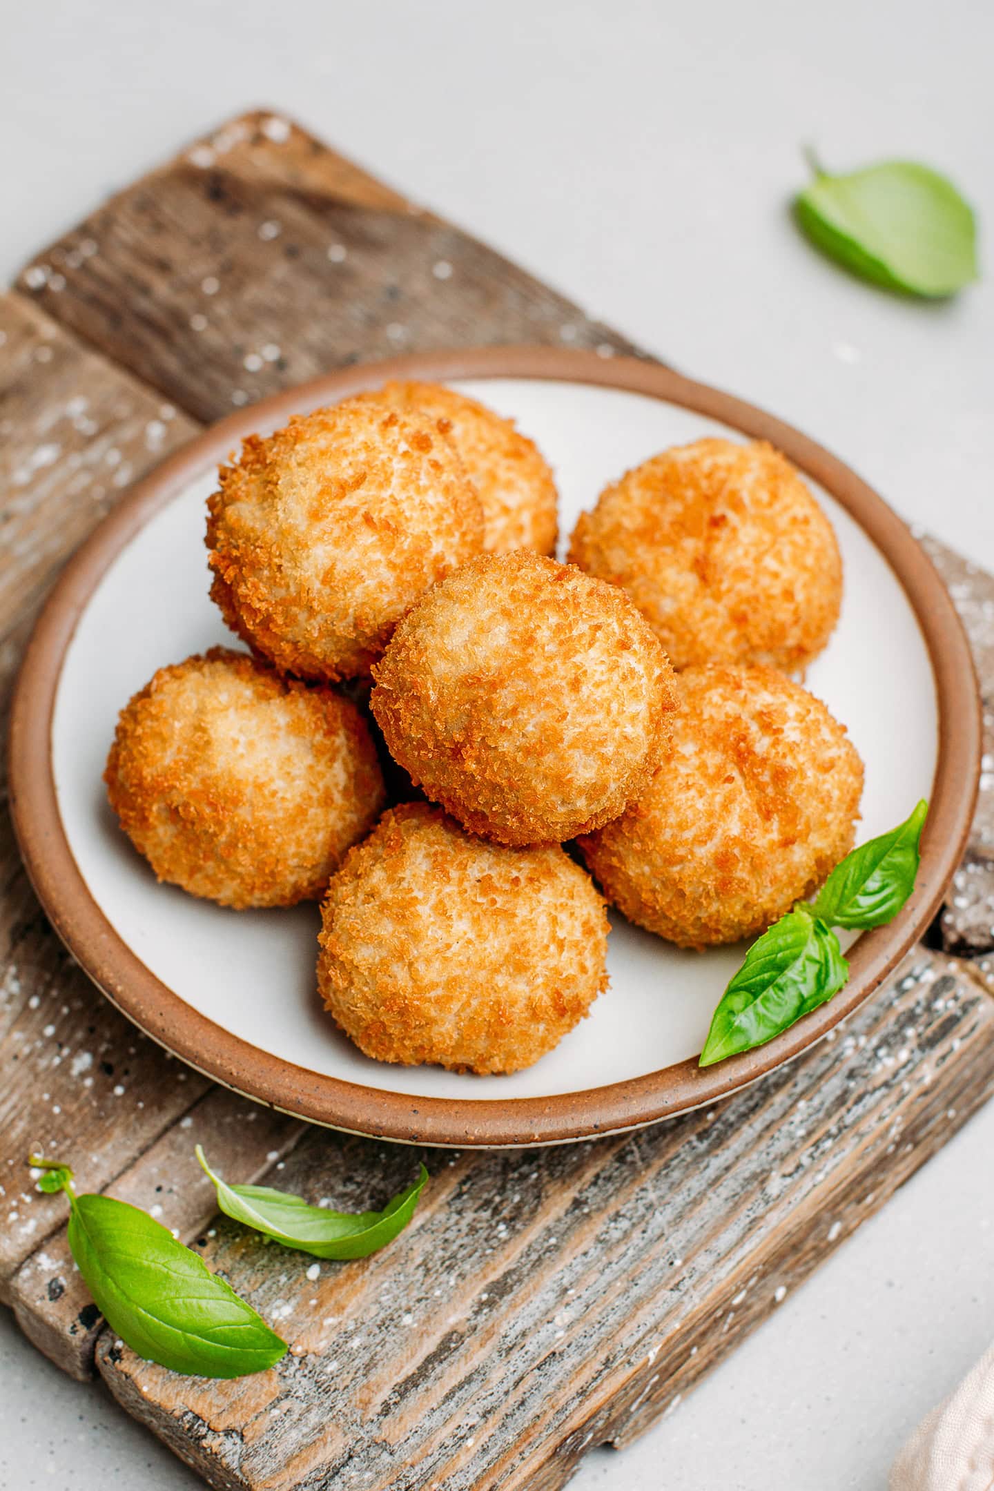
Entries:
<svg viewBox="0 0 994 1491">
<path fill-rule="evenodd" d="M 918 1425 L 894 1461 L 890 1491 L 993 1491 L 994 1346 Z"/>
</svg>

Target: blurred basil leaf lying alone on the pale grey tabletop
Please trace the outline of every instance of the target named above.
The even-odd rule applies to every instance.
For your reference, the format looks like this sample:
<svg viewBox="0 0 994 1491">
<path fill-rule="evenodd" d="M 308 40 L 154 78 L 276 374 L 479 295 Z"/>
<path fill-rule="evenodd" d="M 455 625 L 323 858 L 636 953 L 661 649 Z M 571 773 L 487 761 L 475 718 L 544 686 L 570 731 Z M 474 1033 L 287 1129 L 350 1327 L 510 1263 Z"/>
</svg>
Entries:
<svg viewBox="0 0 994 1491">
<path fill-rule="evenodd" d="M 973 210 L 952 182 L 915 161 L 848 176 L 817 168 L 794 213 L 817 248 L 887 289 L 954 295 L 978 277 Z"/>
</svg>

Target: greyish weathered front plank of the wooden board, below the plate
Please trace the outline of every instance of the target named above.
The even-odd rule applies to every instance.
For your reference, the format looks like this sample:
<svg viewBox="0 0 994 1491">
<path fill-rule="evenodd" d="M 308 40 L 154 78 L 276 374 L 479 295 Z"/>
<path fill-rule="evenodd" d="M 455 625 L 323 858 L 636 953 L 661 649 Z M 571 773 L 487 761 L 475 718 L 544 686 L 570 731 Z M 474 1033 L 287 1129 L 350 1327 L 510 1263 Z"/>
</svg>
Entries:
<svg viewBox="0 0 994 1491">
<path fill-rule="evenodd" d="M 359 1264 L 201 1254 L 292 1354 L 241 1382 L 177 1378 L 112 1336 L 110 1390 L 212 1485 L 560 1487 L 751 1330 L 994 1087 L 994 1002 L 943 954 L 803 1060 L 709 1111 L 529 1154 L 443 1154 L 411 1227 Z M 308 1135 L 280 1184 L 361 1205 L 410 1151 Z M 317 1275 L 317 1276 L 314 1276 Z"/>
</svg>

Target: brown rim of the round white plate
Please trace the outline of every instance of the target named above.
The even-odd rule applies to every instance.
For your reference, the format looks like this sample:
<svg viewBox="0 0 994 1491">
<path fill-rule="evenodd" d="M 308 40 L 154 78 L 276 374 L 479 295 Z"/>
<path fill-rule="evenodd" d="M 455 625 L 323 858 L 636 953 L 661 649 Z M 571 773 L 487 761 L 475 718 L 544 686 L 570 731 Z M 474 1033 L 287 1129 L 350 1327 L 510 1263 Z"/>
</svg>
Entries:
<svg viewBox="0 0 994 1491">
<path fill-rule="evenodd" d="M 243 435 L 387 377 L 553 379 L 617 388 L 694 410 L 778 446 L 848 510 L 900 580 L 925 638 L 939 708 L 939 754 L 918 884 L 894 921 L 863 933 L 852 947 L 846 989 L 759 1050 L 703 1071 L 687 1060 L 550 1097 L 462 1100 L 384 1091 L 294 1066 L 198 1014 L 136 957 L 91 896 L 63 829 L 51 751 L 63 659 L 89 596 L 152 514 L 224 459 Z M 963 854 L 979 763 L 981 704 L 963 625 L 930 559 L 872 488 L 793 426 L 656 362 L 532 346 L 411 353 L 323 374 L 238 410 L 170 456 L 133 488 L 63 571 L 24 658 L 9 737 L 13 828 L 39 901 L 76 962 L 146 1035 L 224 1085 L 310 1123 L 407 1144 L 484 1148 L 562 1144 L 657 1123 L 724 1097 L 814 1045 L 878 987 L 936 914 Z"/>
</svg>

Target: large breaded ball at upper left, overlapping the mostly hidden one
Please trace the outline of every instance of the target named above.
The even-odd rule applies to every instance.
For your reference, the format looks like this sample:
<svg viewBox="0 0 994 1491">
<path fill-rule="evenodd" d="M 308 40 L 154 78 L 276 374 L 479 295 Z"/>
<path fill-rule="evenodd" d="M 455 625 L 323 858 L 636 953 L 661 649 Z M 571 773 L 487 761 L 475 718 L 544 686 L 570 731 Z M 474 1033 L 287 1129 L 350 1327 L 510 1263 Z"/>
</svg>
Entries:
<svg viewBox="0 0 994 1491">
<path fill-rule="evenodd" d="M 285 672 L 365 672 L 404 611 L 483 547 L 480 498 L 435 422 L 367 400 L 250 435 L 207 502 L 212 596 Z"/>
</svg>

